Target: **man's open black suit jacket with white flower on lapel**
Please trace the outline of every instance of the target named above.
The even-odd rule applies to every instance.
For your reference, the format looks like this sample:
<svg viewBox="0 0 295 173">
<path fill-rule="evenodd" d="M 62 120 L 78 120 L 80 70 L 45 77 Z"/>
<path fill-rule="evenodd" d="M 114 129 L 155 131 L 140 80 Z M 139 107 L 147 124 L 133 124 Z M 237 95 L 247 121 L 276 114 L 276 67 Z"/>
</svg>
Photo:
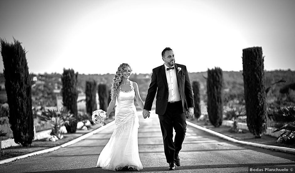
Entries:
<svg viewBox="0 0 295 173">
<path fill-rule="evenodd" d="M 178 70 L 178 67 L 181 68 L 180 71 Z M 180 98 L 182 101 L 182 108 L 183 112 L 185 112 L 188 107 L 195 107 L 193 92 L 190 85 L 190 78 L 185 65 L 175 64 L 174 68 L 176 71 L 177 85 L 179 88 Z M 167 108 L 169 96 L 168 83 L 164 64 L 153 69 L 152 80 L 147 90 L 147 98 L 145 100 L 143 109 L 152 109 L 152 104 L 156 92 L 156 114 L 163 115 Z"/>
</svg>

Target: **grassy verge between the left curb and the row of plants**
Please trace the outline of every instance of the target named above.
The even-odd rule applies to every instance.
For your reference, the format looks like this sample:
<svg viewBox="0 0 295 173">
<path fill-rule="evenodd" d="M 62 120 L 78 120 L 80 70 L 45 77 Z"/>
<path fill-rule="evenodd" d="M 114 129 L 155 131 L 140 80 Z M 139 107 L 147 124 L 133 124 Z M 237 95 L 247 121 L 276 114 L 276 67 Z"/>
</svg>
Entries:
<svg viewBox="0 0 295 173">
<path fill-rule="evenodd" d="M 114 120 L 114 118 L 109 118 L 105 120 L 105 122 L 108 123 L 112 120 Z M 19 146 L 10 147 L 10 148 L 4 148 L 4 149 L 1 149 L 0 160 L 32 153 L 35 151 L 40 151 L 47 148 L 56 147 L 63 143 L 69 142 L 77 137 L 80 137 L 83 134 L 93 131 L 99 127 L 100 125 L 95 124 L 91 126 L 88 130 L 77 129 L 76 133 L 65 133 L 63 134 L 64 137 L 60 140 L 57 140 L 56 142 L 46 141 L 45 139 L 43 139 L 43 140 L 33 141 L 31 146 L 28 146 L 28 147 L 23 147 L 19 145 Z"/>
</svg>

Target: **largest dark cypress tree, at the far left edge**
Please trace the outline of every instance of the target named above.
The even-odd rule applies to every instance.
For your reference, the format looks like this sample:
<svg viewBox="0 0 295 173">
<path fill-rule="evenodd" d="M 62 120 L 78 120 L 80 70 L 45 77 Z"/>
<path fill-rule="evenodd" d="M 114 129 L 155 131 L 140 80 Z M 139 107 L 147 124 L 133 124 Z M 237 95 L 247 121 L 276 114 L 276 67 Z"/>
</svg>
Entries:
<svg viewBox="0 0 295 173">
<path fill-rule="evenodd" d="M 14 142 L 28 146 L 34 139 L 31 80 L 25 50 L 13 40 L 14 44 L 9 44 L 0 39 L 9 123 Z"/>
</svg>

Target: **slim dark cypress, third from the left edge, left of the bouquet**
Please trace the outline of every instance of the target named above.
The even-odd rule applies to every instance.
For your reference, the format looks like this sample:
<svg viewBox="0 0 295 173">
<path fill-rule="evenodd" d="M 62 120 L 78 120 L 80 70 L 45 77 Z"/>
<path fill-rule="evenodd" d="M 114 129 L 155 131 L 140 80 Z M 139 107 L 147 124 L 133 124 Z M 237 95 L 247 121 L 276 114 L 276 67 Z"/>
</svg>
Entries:
<svg viewBox="0 0 295 173">
<path fill-rule="evenodd" d="M 91 123 L 93 123 L 91 119 L 92 111 L 97 109 L 96 81 L 86 81 L 85 94 L 86 94 L 86 112 L 89 115 Z"/>
</svg>

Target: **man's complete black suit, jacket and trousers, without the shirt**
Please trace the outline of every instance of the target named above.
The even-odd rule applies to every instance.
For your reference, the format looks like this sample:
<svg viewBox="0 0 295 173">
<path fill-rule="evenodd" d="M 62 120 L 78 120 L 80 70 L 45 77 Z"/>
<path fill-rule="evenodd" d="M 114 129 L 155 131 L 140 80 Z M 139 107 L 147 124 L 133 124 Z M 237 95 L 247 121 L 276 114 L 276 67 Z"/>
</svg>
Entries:
<svg viewBox="0 0 295 173">
<path fill-rule="evenodd" d="M 178 156 L 186 132 L 185 112 L 188 107 L 195 106 L 186 66 L 174 64 L 174 67 L 181 100 L 174 103 L 168 102 L 169 90 L 163 64 L 153 69 L 143 108 L 151 110 L 156 96 L 156 114 L 160 120 L 167 163 L 173 162 L 174 156 Z M 173 128 L 175 130 L 174 142 Z"/>
</svg>

